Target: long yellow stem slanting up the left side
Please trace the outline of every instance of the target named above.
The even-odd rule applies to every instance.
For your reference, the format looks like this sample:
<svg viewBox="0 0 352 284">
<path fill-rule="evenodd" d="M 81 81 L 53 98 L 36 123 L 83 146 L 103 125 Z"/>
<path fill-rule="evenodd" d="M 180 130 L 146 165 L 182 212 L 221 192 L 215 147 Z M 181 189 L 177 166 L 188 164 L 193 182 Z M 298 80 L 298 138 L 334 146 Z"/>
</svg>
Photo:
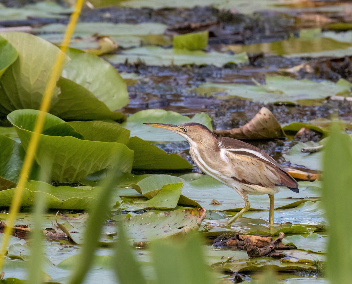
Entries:
<svg viewBox="0 0 352 284">
<path fill-rule="evenodd" d="M 42 103 L 40 104 L 40 108 L 39 108 L 39 110 L 41 110 L 42 112 L 39 112 L 39 114 L 38 114 L 37 121 L 34 126 L 34 130 L 33 130 L 33 134 L 31 136 L 30 142 L 28 144 L 28 149 L 26 151 L 26 156 L 25 156 L 25 159 L 23 162 L 23 167 L 21 169 L 21 173 L 20 173 L 20 179 L 18 181 L 17 188 L 15 190 L 15 194 L 12 199 L 10 212 L 9 212 L 7 224 L 6 224 L 7 226 L 6 226 L 5 232 L 4 232 L 5 233 L 4 238 L 2 239 L 1 251 L 0 251 L 0 271 L 1 271 L 2 265 L 4 263 L 6 247 L 8 245 L 8 241 L 10 239 L 10 235 L 12 232 L 12 227 L 14 225 L 16 214 L 19 210 L 23 188 L 24 188 L 25 182 L 27 181 L 27 178 L 28 178 L 28 176 L 31 172 L 31 169 L 32 169 L 34 156 L 36 154 L 37 147 L 38 147 L 39 134 L 42 133 L 42 131 L 43 131 L 45 116 L 46 116 L 46 112 L 48 112 L 49 108 L 50 108 L 52 93 L 53 93 L 54 88 L 56 86 L 56 79 L 61 74 L 62 65 L 63 65 L 64 59 L 65 59 L 65 53 L 66 53 L 67 47 L 70 43 L 72 34 L 75 30 L 77 20 L 80 16 L 82 5 L 83 5 L 83 0 L 77 0 L 74 12 L 71 15 L 70 22 L 67 26 L 65 36 L 64 36 L 64 39 L 62 42 L 62 46 L 61 46 L 62 52 L 58 53 L 55 66 L 52 70 L 48 85 L 46 86 L 45 92 L 43 94 Z"/>
</svg>

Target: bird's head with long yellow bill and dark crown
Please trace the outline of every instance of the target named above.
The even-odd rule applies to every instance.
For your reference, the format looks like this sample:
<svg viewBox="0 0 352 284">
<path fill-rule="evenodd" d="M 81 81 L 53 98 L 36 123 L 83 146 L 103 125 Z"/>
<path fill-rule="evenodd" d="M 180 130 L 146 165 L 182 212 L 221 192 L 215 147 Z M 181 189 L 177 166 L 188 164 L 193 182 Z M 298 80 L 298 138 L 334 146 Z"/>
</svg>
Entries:
<svg viewBox="0 0 352 284">
<path fill-rule="evenodd" d="M 203 124 L 189 122 L 183 124 L 165 124 L 165 123 L 144 123 L 146 125 L 158 128 L 164 128 L 173 131 L 184 137 L 189 143 L 202 143 L 207 139 L 216 137 L 208 127 Z"/>
</svg>

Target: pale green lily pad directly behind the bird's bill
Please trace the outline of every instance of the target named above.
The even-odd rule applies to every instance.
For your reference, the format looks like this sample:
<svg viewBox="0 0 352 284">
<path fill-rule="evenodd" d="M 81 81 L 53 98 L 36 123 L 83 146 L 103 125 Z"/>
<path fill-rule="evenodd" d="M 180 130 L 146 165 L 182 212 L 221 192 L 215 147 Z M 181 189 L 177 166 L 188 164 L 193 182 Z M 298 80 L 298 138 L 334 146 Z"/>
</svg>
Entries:
<svg viewBox="0 0 352 284">
<path fill-rule="evenodd" d="M 144 125 L 145 122 L 182 124 L 198 122 L 212 130 L 211 119 L 207 114 L 195 114 L 192 118 L 183 116 L 174 111 L 163 109 L 148 109 L 138 111 L 121 123 L 121 126 L 131 130 L 131 136 L 138 136 L 145 141 L 184 141 L 180 135 L 161 128 L 152 128 Z"/>
</svg>

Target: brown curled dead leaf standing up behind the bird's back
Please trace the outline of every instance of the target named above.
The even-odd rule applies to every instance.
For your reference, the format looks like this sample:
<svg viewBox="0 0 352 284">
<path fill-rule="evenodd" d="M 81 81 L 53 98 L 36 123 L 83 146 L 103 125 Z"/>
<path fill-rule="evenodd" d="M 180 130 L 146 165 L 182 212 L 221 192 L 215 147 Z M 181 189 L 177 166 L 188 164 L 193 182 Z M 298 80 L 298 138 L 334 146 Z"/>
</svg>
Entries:
<svg viewBox="0 0 352 284">
<path fill-rule="evenodd" d="M 260 109 L 250 122 L 240 128 L 214 130 L 214 133 L 236 139 L 267 139 L 285 136 L 276 117 L 265 107 Z"/>
</svg>

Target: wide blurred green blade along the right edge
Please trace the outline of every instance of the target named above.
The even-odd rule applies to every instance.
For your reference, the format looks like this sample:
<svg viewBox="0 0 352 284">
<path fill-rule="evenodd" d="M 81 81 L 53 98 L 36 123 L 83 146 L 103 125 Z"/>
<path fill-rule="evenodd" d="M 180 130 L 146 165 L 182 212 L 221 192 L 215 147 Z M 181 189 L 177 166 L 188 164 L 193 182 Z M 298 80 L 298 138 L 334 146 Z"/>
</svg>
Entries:
<svg viewBox="0 0 352 284">
<path fill-rule="evenodd" d="M 323 156 L 325 206 L 329 231 L 327 276 L 331 284 L 350 283 L 352 279 L 352 141 L 335 123 Z"/>
</svg>

